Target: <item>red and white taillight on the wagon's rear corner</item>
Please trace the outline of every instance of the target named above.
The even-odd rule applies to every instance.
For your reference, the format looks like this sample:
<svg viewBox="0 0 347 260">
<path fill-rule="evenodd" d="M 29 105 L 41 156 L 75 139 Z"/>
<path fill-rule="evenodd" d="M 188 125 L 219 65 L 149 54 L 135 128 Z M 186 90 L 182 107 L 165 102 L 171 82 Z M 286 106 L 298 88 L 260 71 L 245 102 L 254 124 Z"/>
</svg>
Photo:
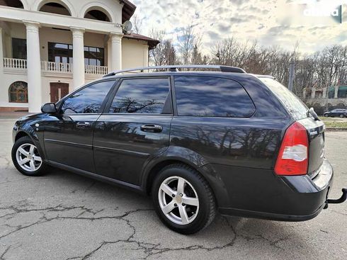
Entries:
<svg viewBox="0 0 347 260">
<path fill-rule="evenodd" d="M 280 145 L 275 173 L 278 175 L 307 174 L 308 147 L 306 129 L 297 122 L 290 125 Z"/>
</svg>

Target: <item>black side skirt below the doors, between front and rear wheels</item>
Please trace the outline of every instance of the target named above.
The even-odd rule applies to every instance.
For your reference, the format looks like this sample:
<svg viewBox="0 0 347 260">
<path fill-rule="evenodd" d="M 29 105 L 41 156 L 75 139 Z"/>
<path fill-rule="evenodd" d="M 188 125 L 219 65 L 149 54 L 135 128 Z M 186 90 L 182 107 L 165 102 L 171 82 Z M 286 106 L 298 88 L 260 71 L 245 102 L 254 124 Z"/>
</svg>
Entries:
<svg viewBox="0 0 347 260">
<path fill-rule="evenodd" d="M 72 166 L 67 166 L 67 165 L 64 165 L 64 164 L 60 164 L 59 162 L 52 162 L 50 160 L 47 160 L 45 162 L 47 164 L 49 164 L 50 166 L 53 166 L 53 167 L 56 167 L 56 168 L 59 168 L 59 169 L 63 169 L 63 170 L 66 170 L 66 171 L 71 171 L 74 174 L 79 174 L 81 176 L 87 176 L 87 177 L 89 177 L 91 179 L 95 179 L 96 181 L 102 181 L 102 182 L 105 182 L 105 183 L 108 183 L 108 184 L 112 184 L 112 185 L 115 185 L 115 186 L 129 188 L 132 191 L 137 191 L 138 193 L 144 194 L 144 191 L 142 190 L 142 188 L 140 186 L 134 185 L 132 183 L 127 183 L 125 181 L 118 181 L 116 179 L 112 179 L 112 178 L 109 178 L 109 177 L 106 177 L 106 176 L 102 176 L 102 175 L 99 175 L 99 174 L 93 174 L 90 171 L 84 171 L 84 170 L 81 170 L 81 169 L 77 169 L 77 168 L 74 168 Z"/>
</svg>

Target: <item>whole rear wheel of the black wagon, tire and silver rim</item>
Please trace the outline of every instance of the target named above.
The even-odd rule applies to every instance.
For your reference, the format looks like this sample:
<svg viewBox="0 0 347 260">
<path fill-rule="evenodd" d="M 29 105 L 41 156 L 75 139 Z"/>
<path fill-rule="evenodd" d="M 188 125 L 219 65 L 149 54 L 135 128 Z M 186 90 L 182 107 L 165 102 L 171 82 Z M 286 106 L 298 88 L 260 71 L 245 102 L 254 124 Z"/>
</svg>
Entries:
<svg viewBox="0 0 347 260">
<path fill-rule="evenodd" d="M 160 171 L 152 186 L 154 208 L 171 230 L 193 234 L 210 225 L 215 217 L 215 198 L 198 171 L 172 164 Z"/>
</svg>

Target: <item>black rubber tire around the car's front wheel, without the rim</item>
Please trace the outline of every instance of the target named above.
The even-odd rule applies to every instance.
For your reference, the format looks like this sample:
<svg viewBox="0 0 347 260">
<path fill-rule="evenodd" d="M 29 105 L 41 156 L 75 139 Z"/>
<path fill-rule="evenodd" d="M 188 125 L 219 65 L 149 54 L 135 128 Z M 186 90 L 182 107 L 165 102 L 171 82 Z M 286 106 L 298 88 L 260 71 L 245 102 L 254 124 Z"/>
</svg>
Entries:
<svg viewBox="0 0 347 260">
<path fill-rule="evenodd" d="M 42 162 L 40 166 L 38 167 L 38 169 L 36 169 L 35 171 L 26 171 L 25 169 L 22 168 L 22 166 L 19 165 L 19 163 L 17 162 L 16 153 L 18 148 L 21 147 L 21 145 L 25 145 L 25 144 L 35 145 L 33 140 L 31 140 L 30 137 L 25 136 L 25 137 L 19 138 L 12 147 L 12 151 L 11 151 L 12 162 L 14 166 L 16 166 L 16 169 L 20 171 L 21 174 L 24 174 L 26 176 L 41 176 L 42 174 L 45 174 L 47 170 L 47 166 L 45 165 L 44 162 Z M 35 149 L 35 155 L 40 157 L 40 154 L 38 154 L 38 149 Z"/>
</svg>

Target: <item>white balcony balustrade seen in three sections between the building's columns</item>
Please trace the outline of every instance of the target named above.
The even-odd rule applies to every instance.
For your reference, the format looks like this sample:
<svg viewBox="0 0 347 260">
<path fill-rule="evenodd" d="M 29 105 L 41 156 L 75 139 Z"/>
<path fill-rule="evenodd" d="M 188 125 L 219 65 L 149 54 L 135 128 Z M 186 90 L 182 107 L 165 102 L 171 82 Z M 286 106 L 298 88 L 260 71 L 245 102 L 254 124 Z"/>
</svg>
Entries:
<svg viewBox="0 0 347 260">
<path fill-rule="evenodd" d="M 26 73 L 27 60 L 4 58 L 4 69 L 11 72 Z M 25 72 L 23 72 L 25 70 Z M 67 73 L 72 74 L 72 64 L 62 62 L 41 61 L 41 71 L 46 73 Z M 108 73 L 108 67 L 85 65 L 85 73 L 88 75 L 102 76 Z"/>
</svg>

